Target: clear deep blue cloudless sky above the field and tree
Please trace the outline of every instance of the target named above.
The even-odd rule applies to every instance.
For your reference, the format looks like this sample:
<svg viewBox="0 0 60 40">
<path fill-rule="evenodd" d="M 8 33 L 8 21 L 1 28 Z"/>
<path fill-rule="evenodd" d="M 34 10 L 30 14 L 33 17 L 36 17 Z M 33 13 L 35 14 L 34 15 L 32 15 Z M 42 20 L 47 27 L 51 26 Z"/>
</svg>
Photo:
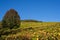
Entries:
<svg viewBox="0 0 60 40">
<path fill-rule="evenodd" d="M 22 20 L 60 22 L 60 0 L 0 0 L 0 20 L 11 8 Z"/>
</svg>

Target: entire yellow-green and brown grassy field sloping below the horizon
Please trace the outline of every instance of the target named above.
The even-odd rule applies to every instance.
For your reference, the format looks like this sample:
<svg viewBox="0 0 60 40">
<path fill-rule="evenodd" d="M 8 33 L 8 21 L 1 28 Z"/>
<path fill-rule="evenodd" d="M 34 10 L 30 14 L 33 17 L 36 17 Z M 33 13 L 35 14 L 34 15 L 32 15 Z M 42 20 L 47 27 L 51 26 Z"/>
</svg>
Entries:
<svg viewBox="0 0 60 40">
<path fill-rule="evenodd" d="M 18 29 L 6 29 L 5 40 L 60 40 L 60 22 L 21 22 Z"/>
</svg>

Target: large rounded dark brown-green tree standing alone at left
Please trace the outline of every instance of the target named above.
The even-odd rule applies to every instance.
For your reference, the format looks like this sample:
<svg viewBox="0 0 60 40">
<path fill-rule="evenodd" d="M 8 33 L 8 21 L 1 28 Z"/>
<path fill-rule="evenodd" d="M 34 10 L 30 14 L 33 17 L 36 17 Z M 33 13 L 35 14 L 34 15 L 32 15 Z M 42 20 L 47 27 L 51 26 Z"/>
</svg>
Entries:
<svg viewBox="0 0 60 40">
<path fill-rule="evenodd" d="M 20 26 L 20 17 L 14 9 L 6 12 L 2 20 L 3 28 L 18 28 Z"/>
</svg>

